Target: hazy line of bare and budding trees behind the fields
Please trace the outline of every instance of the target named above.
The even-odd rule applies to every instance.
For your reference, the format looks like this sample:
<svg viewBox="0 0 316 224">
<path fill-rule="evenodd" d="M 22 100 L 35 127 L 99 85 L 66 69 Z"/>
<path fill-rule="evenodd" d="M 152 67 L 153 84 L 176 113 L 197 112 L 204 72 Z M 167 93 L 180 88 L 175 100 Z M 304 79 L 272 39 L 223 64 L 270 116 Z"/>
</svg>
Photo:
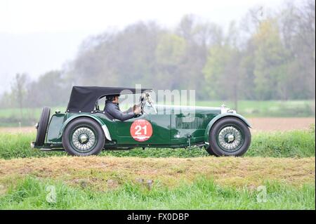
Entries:
<svg viewBox="0 0 316 224">
<path fill-rule="evenodd" d="M 228 30 L 195 15 L 88 37 L 62 70 L 16 74 L 0 107 L 65 105 L 71 86 L 195 89 L 197 100 L 315 99 L 315 2 L 251 8 Z"/>
</svg>

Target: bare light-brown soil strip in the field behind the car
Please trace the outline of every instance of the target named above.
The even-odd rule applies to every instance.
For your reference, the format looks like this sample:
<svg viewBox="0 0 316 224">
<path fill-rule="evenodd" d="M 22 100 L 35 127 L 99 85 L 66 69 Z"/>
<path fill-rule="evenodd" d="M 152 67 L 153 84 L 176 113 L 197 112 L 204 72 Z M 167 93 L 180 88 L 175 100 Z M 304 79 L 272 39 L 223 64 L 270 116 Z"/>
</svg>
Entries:
<svg viewBox="0 0 316 224">
<path fill-rule="evenodd" d="M 308 129 L 315 124 L 315 117 L 258 117 L 248 119 L 252 131 L 289 131 L 294 129 Z M 34 127 L 1 128 L 1 132 L 32 132 Z"/>
</svg>

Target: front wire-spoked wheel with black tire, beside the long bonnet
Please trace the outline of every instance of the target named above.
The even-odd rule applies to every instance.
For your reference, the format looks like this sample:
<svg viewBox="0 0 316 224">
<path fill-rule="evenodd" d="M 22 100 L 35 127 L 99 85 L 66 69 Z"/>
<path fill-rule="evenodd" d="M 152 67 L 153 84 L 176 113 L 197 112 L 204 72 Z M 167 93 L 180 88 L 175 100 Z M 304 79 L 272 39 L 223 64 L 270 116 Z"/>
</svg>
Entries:
<svg viewBox="0 0 316 224">
<path fill-rule="evenodd" d="M 248 150 L 250 143 L 251 133 L 244 121 L 237 117 L 225 117 L 213 124 L 206 151 L 218 157 L 240 157 Z"/>
</svg>

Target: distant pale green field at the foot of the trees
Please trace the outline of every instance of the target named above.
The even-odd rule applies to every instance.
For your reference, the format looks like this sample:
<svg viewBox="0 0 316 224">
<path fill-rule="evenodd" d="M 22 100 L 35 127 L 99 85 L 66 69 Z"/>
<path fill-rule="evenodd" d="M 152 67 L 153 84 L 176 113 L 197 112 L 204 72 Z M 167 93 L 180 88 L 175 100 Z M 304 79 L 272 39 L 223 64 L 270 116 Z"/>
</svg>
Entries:
<svg viewBox="0 0 316 224">
<path fill-rule="evenodd" d="M 232 102 L 224 101 L 197 101 L 197 106 L 220 107 L 225 103 L 234 108 Z M 0 109 L 0 126 L 32 126 L 37 123 L 42 108 L 24 108 L 21 119 L 18 108 Z M 66 105 L 52 107 L 55 110 L 65 111 Z M 127 109 L 127 105 L 121 105 Z M 315 117 L 315 100 L 289 100 L 289 101 L 249 101 L 241 100 L 237 112 L 245 117 Z"/>
</svg>

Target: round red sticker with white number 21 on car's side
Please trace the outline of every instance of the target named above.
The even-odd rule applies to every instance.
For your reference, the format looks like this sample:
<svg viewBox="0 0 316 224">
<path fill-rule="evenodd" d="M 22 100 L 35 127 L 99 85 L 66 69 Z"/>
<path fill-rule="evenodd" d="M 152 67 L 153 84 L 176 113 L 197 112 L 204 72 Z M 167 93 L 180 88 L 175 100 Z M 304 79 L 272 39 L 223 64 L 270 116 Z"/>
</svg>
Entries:
<svg viewBox="0 0 316 224">
<path fill-rule="evenodd" d="M 133 122 L 130 131 L 133 139 L 143 142 L 152 136 L 152 125 L 145 119 L 139 119 Z"/>
</svg>

